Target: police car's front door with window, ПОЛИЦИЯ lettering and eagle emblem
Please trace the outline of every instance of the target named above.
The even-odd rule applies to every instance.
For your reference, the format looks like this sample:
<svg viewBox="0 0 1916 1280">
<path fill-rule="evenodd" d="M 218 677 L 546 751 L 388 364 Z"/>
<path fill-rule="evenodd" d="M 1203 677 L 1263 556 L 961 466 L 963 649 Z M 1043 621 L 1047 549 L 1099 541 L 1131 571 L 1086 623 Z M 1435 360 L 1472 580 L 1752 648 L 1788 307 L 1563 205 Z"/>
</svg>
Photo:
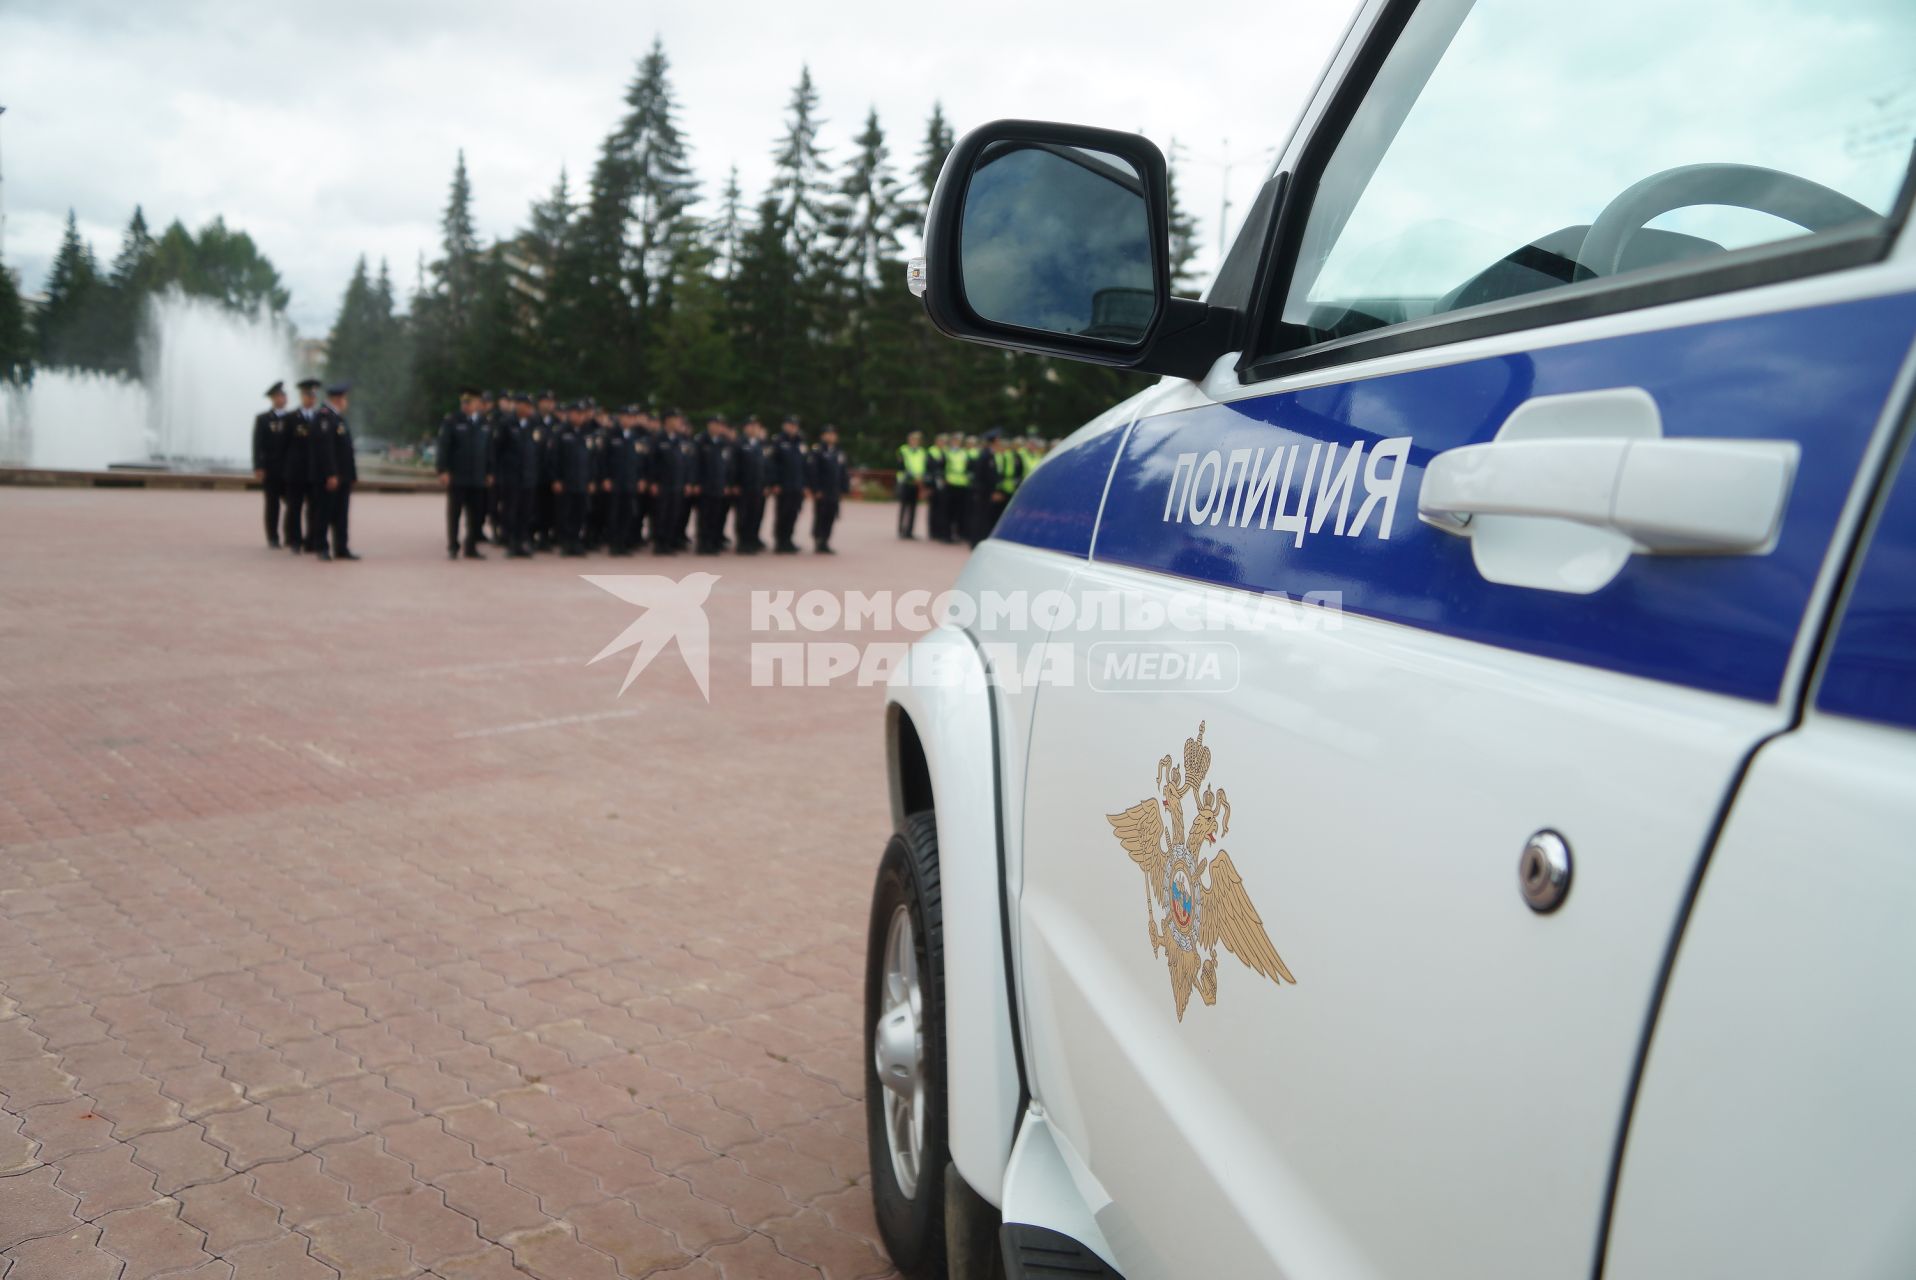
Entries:
<svg viewBox="0 0 1916 1280">
<path fill-rule="evenodd" d="M 1031 1094 L 1132 1280 L 1590 1274 L 1916 333 L 1912 21 L 1360 13 L 1255 347 L 1109 445 L 1029 745 Z"/>
</svg>

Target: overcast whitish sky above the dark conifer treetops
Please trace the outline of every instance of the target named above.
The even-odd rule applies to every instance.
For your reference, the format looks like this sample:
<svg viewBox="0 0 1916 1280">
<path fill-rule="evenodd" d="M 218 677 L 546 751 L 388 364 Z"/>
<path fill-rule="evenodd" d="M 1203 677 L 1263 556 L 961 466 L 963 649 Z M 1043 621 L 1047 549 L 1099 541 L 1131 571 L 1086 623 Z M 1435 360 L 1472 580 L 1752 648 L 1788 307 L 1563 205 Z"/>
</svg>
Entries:
<svg viewBox="0 0 1916 1280">
<path fill-rule="evenodd" d="M 506 236 L 559 167 L 582 184 L 638 56 L 663 36 L 707 195 L 770 171 L 809 63 L 832 157 L 878 107 L 910 163 L 933 100 L 964 130 L 1008 115 L 1140 128 L 1192 153 L 1178 182 L 1217 247 L 1349 21 L 1351 0 L 0 0 L 6 261 L 38 291 L 71 207 L 103 263 L 136 203 L 157 230 L 224 215 L 331 326 L 353 261 L 410 289 L 460 148 L 479 230 Z"/>
</svg>

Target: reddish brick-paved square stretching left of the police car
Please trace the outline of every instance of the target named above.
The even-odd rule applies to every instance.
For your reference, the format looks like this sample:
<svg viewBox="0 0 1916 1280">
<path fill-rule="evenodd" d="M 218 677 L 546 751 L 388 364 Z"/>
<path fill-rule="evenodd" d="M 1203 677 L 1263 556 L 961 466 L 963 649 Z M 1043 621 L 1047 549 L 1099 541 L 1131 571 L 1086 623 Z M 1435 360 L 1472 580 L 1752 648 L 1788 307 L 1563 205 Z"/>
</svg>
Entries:
<svg viewBox="0 0 1916 1280">
<path fill-rule="evenodd" d="M 259 496 L 0 489 L 0 1276 L 883 1276 L 860 964 L 881 692 L 745 688 L 839 556 L 362 563 Z M 720 573 L 713 697 L 579 573 Z M 856 636 L 853 636 L 856 638 Z"/>
</svg>

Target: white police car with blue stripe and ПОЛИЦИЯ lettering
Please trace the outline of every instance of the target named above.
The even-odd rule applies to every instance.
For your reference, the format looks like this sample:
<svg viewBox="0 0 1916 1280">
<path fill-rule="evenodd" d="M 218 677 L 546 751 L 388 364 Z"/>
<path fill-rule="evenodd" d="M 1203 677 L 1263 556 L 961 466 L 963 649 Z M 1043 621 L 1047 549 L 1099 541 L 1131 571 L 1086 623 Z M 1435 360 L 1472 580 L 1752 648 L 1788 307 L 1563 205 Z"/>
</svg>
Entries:
<svg viewBox="0 0 1916 1280">
<path fill-rule="evenodd" d="M 1163 379 L 889 694 L 906 1272 L 1916 1274 L 1912 67 L 1372 0 L 1201 303 L 1142 138 L 958 144 L 933 322 Z"/>
</svg>

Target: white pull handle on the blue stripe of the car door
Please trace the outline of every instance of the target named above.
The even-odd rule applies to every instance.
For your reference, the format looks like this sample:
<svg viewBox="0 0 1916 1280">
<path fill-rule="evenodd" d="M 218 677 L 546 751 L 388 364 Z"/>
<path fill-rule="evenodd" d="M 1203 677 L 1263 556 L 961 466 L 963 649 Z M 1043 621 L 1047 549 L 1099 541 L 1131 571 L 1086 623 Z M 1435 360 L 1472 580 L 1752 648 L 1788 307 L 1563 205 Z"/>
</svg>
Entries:
<svg viewBox="0 0 1916 1280">
<path fill-rule="evenodd" d="M 1418 517 L 1470 535 L 1475 515 L 1537 515 L 1619 533 L 1642 552 L 1768 550 L 1795 441 L 1531 439 L 1448 448 L 1424 468 Z"/>
</svg>

